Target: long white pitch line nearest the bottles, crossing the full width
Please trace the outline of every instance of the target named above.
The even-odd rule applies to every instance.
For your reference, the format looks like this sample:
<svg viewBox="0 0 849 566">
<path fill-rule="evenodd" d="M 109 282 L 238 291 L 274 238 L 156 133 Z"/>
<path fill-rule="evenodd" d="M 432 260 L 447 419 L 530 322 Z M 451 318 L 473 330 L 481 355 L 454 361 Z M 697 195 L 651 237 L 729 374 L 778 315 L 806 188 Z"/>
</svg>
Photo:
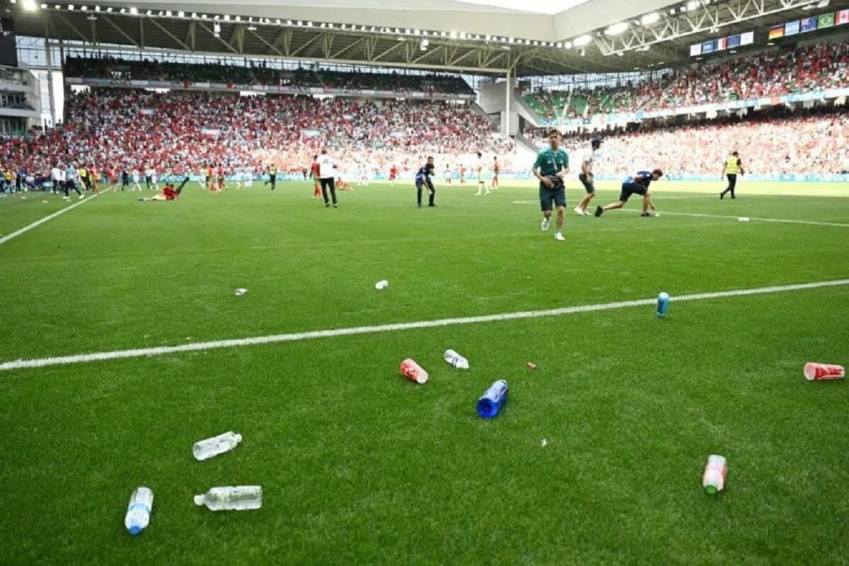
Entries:
<svg viewBox="0 0 849 566">
<path fill-rule="evenodd" d="M 799 283 L 796 285 L 778 285 L 773 287 L 761 287 L 758 289 L 736 289 L 731 291 L 718 291 L 714 293 L 684 294 L 672 297 L 672 300 L 674 302 L 682 302 L 685 300 L 720 299 L 722 297 L 737 297 L 740 295 L 748 294 L 780 293 L 783 291 L 818 289 L 822 287 L 836 287 L 839 285 L 849 285 L 849 279 L 820 281 L 818 283 Z M 66 364 L 82 363 L 86 361 L 115 360 L 121 358 L 134 358 L 142 356 L 163 356 L 165 354 L 174 354 L 177 352 L 216 350 L 219 348 L 235 348 L 237 346 L 275 344 L 278 342 L 295 342 L 306 339 L 335 338 L 337 336 L 352 336 L 356 334 L 395 332 L 397 330 L 411 330 L 417 328 L 436 328 L 444 326 L 455 326 L 458 324 L 476 324 L 479 322 L 499 322 L 505 320 L 516 320 L 520 318 L 559 317 L 563 315 L 573 314 L 576 312 L 610 311 L 612 309 L 622 309 L 627 308 L 629 306 L 645 306 L 654 304 L 655 299 L 625 300 L 616 303 L 601 303 L 597 305 L 566 306 L 559 309 L 548 309 L 547 311 L 504 312 L 501 314 L 484 315 L 481 317 L 441 318 L 437 320 L 421 322 L 397 322 L 395 324 L 381 324 L 379 326 L 331 328 L 328 330 L 315 330 L 312 332 L 256 336 L 254 338 L 194 342 L 176 346 L 156 346 L 153 348 L 136 348 L 134 350 L 113 350 L 110 352 L 93 352 L 91 354 L 76 354 L 73 356 L 33 358 L 30 360 L 15 360 L 0 363 L 0 371 L 7 371 L 11 369 L 23 369 L 26 367 L 62 366 Z"/>
</svg>

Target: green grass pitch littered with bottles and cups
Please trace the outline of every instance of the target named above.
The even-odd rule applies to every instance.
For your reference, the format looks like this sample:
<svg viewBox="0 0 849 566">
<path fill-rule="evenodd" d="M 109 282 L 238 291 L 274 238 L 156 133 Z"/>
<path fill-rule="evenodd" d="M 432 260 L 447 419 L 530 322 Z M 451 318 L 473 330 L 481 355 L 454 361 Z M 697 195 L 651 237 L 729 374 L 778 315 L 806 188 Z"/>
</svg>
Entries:
<svg viewBox="0 0 849 566">
<path fill-rule="evenodd" d="M 0 374 L 2 561 L 845 563 L 849 389 L 801 367 L 849 361 L 849 288 L 674 296 L 847 277 L 849 228 L 662 211 L 849 223 L 849 200 L 662 186 L 660 218 L 638 202 L 569 210 L 565 243 L 514 204 L 532 188 L 440 187 L 441 208 L 417 210 L 414 188 L 380 185 L 325 210 L 312 186 L 281 183 L 190 186 L 177 203 L 107 194 L 3 244 L 15 295 L 0 361 L 660 290 L 673 302 L 662 321 L 628 308 Z M 0 233 L 61 206 L 47 199 L 0 199 Z M 469 372 L 441 361 L 449 347 Z M 398 374 L 407 356 L 428 384 Z M 475 400 L 496 378 L 509 400 L 484 422 Z M 194 462 L 195 440 L 228 429 L 242 445 Z M 711 453 L 729 464 L 713 497 Z M 261 510 L 191 501 L 239 484 L 263 486 Z M 134 539 L 138 485 L 155 502 Z"/>
</svg>

